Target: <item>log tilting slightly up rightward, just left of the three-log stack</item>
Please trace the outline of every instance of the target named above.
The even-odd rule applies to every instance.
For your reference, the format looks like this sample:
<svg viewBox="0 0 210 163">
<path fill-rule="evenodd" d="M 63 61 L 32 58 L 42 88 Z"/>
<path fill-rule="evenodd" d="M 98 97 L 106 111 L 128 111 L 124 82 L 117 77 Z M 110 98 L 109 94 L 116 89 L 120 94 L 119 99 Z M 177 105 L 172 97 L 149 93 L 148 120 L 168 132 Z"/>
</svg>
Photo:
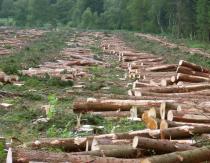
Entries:
<svg viewBox="0 0 210 163">
<path fill-rule="evenodd" d="M 161 65 L 161 66 L 155 66 L 151 68 L 147 68 L 146 71 L 153 71 L 153 72 L 170 72 L 170 71 L 176 71 L 177 65 L 171 64 L 171 65 Z"/>
</svg>

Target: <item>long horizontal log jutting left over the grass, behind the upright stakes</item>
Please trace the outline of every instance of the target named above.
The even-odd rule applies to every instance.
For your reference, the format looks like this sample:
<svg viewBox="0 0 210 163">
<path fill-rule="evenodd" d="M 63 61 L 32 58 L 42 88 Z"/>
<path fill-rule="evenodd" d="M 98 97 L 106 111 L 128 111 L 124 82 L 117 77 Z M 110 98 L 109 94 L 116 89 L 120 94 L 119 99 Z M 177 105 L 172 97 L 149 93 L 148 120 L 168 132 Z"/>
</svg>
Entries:
<svg viewBox="0 0 210 163">
<path fill-rule="evenodd" d="M 173 100 L 169 100 L 169 102 Z M 101 111 L 129 111 L 132 106 L 159 107 L 162 100 L 116 100 L 94 99 L 77 100 L 74 103 L 74 112 L 101 112 Z"/>
</svg>

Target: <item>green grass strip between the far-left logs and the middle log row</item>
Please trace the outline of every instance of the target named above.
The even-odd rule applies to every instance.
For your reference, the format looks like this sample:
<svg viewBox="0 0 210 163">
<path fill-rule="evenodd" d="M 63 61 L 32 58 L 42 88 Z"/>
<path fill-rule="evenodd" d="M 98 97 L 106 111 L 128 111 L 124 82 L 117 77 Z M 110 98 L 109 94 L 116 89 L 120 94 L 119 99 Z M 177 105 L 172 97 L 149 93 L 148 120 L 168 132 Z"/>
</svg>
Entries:
<svg viewBox="0 0 210 163">
<path fill-rule="evenodd" d="M 0 69 L 8 74 L 17 74 L 18 70 L 28 69 L 44 61 L 52 61 L 59 57 L 64 42 L 71 36 L 71 31 L 48 32 L 40 39 L 13 55 L 0 59 Z"/>
</svg>

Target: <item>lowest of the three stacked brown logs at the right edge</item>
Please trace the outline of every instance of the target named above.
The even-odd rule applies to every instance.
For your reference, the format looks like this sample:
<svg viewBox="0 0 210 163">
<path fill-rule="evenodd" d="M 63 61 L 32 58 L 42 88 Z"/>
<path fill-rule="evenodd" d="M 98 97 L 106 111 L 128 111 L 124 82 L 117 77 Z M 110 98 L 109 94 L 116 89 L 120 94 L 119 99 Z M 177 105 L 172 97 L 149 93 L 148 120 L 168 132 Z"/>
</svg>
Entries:
<svg viewBox="0 0 210 163">
<path fill-rule="evenodd" d="M 178 73 L 177 81 L 201 83 L 201 82 L 209 82 L 210 78 Z"/>
</svg>

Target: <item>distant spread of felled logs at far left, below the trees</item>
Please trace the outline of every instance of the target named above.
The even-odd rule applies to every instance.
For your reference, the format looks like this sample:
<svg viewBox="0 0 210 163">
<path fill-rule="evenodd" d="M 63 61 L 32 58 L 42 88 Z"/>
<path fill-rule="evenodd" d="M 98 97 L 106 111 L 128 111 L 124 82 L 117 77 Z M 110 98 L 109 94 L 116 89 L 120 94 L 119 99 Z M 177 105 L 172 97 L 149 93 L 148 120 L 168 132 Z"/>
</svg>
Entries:
<svg viewBox="0 0 210 163">
<path fill-rule="evenodd" d="M 25 47 L 29 42 L 40 38 L 47 31 L 1 29 L 0 56 L 12 54 L 14 50 Z"/>
</svg>

